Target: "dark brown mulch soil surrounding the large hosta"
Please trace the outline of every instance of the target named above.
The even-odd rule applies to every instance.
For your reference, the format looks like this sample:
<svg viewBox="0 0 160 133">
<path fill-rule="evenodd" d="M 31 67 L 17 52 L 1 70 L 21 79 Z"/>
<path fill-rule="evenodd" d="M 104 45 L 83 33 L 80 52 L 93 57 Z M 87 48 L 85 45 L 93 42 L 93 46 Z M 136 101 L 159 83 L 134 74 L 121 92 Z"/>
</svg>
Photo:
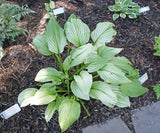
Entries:
<svg viewBox="0 0 160 133">
<path fill-rule="evenodd" d="M 43 34 L 47 21 L 42 19 L 46 13 L 44 3 L 48 0 L 11 0 L 11 3 L 25 5 L 36 11 L 22 19 L 21 24 L 29 33 L 20 36 L 15 42 L 6 41 L 4 57 L 0 62 L 0 112 L 17 103 L 18 94 L 31 87 L 37 87 L 34 77 L 41 68 L 56 67 L 50 56 L 43 56 L 37 52 L 32 44 L 37 34 Z M 149 79 L 143 84 L 149 91 L 138 98 L 131 98 L 131 107 L 120 109 L 108 108 L 100 101 L 85 102 L 91 116 L 87 116 L 82 108 L 81 116 L 66 133 L 82 133 L 82 128 L 102 123 L 115 116 L 121 116 L 134 133 L 131 121 L 131 110 L 156 102 L 156 95 L 152 86 L 160 83 L 160 57 L 153 56 L 155 52 L 154 37 L 160 34 L 160 1 L 143 0 L 137 2 L 141 7 L 150 6 L 150 11 L 137 19 L 112 20 L 113 13 L 108 10 L 114 0 L 57 0 L 56 7 L 65 7 L 65 15 L 59 15 L 58 21 L 63 27 L 66 18 L 74 13 L 81 18 L 91 30 L 98 22 L 110 21 L 115 24 L 117 35 L 108 46 L 123 48 L 120 55 L 127 57 L 133 67 L 140 70 L 140 74 L 148 74 Z M 62 55 L 65 57 L 65 54 Z M 49 123 L 44 119 L 46 106 L 28 106 L 8 120 L 0 119 L 1 133 L 60 133 L 58 113 Z"/>
</svg>

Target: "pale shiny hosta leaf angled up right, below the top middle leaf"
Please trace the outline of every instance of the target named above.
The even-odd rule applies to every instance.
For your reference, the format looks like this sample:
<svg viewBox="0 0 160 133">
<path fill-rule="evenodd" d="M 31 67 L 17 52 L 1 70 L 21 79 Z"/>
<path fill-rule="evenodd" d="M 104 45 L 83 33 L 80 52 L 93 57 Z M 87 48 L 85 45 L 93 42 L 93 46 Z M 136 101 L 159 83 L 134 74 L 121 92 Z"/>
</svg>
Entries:
<svg viewBox="0 0 160 133">
<path fill-rule="evenodd" d="M 91 43 L 73 49 L 71 51 L 71 66 L 76 66 L 84 62 L 87 56 L 92 52 L 93 46 Z"/>
</svg>

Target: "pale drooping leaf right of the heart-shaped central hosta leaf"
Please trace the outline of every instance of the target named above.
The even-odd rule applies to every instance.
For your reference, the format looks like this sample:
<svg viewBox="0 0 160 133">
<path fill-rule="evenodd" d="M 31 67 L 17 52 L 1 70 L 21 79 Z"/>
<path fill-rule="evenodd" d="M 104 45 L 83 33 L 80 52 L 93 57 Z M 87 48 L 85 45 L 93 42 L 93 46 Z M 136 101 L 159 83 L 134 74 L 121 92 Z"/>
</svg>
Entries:
<svg viewBox="0 0 160 133">
<path fill-rule="evenodd" d="M 93 82 L 89 95 L 100 100 L 108 107 L 113 107 L 117 103 L 117 97 L 112 90 L 112 86 L 101 81 Z"/>
</svg>

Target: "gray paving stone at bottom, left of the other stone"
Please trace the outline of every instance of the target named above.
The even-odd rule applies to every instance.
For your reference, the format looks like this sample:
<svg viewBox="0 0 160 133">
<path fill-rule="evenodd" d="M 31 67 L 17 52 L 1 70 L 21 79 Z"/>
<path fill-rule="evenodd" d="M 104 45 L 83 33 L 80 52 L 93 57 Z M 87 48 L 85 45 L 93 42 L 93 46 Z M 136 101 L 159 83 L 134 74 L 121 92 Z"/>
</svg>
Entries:
<svg viewBox="0 0 160 133">
<path fill-rule="evenodd" d="M 131 133 L 131 131 L 119 117 L 116 117 L 101 125 L 88 126 L 83 129 L 83 133 Z"/>
</svg>

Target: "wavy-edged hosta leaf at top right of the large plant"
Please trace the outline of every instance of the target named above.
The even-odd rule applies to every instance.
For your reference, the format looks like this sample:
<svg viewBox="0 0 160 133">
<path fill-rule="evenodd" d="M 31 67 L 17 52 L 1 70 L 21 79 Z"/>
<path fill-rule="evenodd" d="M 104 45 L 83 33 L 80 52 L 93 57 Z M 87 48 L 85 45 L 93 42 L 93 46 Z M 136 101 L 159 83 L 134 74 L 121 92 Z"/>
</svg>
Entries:
<svg viewBox="0 0 160 133">
<path fill-rule="evenodd" d="M 94 44 L 104 45 L 112 40 L 112 37 L 116 35 L 116 31 L 113 29 L 114 24 L 110 22 L 98 23 L 96 29 L 91 33 L 91 38 Z"/>
</svg>

